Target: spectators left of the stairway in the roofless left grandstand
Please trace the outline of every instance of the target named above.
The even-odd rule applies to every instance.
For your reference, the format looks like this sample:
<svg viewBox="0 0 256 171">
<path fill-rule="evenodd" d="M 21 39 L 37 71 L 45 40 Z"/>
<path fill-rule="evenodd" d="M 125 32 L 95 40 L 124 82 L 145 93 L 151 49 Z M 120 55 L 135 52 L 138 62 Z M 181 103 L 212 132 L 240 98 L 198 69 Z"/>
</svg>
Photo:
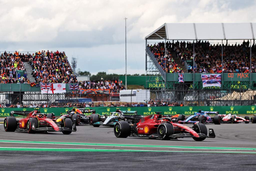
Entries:
<svg viewBox="0 0 256 171">
<path fill-rule="evenodd" d="M 0 83 L 29 83 L 21 54 L 19 55 L 17 51 L 9 54 L 5 51 L 1 54 L 0 60 Z M 25 71 L 24 76 L 21 76 L 18 70 Z"/>
</svg>

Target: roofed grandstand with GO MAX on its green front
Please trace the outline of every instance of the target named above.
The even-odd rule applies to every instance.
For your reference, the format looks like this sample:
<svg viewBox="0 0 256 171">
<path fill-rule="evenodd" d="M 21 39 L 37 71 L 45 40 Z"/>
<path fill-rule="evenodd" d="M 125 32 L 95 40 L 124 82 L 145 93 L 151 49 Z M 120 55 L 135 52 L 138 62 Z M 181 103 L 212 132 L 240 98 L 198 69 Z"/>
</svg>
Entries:
<svg viewBox="0 0 256 171">
<path fill-rule="evenodd" d="M 255 104 L 255 29 L 256 23 L 163 24 L 145 37 L 145 84 L 155 85 L 147 100 Z M 178 82 L 180 73 L 184 83 Z M 221 74 L 221 86 L 204 87 L 201 74 Z"/>
</svg>

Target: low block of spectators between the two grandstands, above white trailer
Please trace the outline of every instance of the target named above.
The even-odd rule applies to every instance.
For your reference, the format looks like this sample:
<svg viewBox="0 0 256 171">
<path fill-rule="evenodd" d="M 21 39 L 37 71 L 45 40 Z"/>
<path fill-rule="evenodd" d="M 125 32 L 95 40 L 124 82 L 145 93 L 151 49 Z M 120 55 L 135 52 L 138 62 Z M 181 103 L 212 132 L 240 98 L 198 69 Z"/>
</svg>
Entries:
<svg viewBox="0 0 256 171">
<path fill-rule="evenodd" d="M 82 89 L 110 89 L 111 92 L 119 93 L 124 90 L 123 81 L 101 80 L 101 81 L 79 81 L 79 88 Z"/>
</svg>

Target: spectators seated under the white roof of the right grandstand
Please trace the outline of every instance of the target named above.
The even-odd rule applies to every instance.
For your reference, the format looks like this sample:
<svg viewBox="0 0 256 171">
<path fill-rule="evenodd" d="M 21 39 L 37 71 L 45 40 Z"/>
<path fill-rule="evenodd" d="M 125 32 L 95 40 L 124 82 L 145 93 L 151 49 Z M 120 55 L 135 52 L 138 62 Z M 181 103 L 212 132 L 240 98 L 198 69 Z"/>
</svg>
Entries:
<svg viewBox="0 0 256 171">
<path fill-rule="evenodd" d="M 223 44 L 223 67 L 221 44 L 210 44 L 209 41 L 193 42 L 177 41 L 166 42 L 166 55 L 164 42 L 157 45 L 148 45 L 148 48 L 158 59 L 159 65 L 168 73 L 182 72 L 173 60 L 172 52 L 177 55 L 184 65 L 186 60 L 194 60 L 197 67 L 188 64 L 188 72 L 196 73 L 221 73 L 221 72 L 249 72 L 250 69 L 250 47 L 249 40 L 241 44 Z M 252 45 L 252 52 L 256 46 Z M 193 54 L 195 50 L 195 54 Z M 252 72 L 256 72 L 256 62 L 252 53 Z M 165 65 L 166 57 L 166 65 Z M 166 68 L 165 68 L 166 66 Z M 194 70 L 194 71 L 193 71 Z"/>
</svg>

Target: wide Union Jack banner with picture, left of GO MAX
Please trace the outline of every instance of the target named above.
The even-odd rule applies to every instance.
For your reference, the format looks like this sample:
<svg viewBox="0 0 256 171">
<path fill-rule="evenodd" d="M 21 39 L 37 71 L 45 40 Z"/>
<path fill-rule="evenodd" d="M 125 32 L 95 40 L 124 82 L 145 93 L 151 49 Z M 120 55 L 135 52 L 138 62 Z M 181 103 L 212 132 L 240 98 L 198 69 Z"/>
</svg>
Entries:
<svg viewBox="0 0 256 171">
<path fill-rule="evenodd" d="M 203 87 L 221 87 L 221 74 L 202 74 Z"/>
</svg>

